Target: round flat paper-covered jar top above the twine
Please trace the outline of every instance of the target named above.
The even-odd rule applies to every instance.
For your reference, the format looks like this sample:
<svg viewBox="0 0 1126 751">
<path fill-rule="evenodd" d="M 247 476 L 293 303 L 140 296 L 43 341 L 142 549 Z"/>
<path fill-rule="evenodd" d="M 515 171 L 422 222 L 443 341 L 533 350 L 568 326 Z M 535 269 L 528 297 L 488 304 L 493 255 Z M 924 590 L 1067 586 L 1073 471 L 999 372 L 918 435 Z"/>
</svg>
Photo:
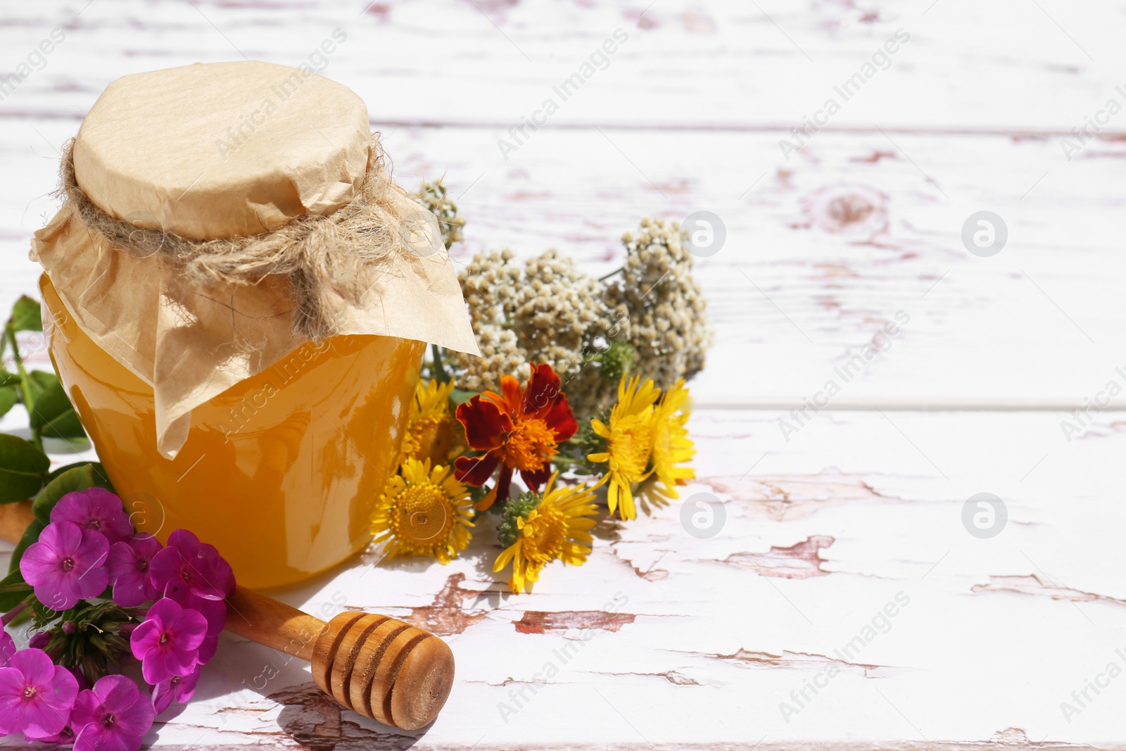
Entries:
<svg viewBox="0 0 1126 751">
<path fill-rule="evenodd" d="M 347 87 L 272 63 L 195 63 L 110 83 L 79 129 L 74 173 L 115 218 L 224 239 L 334 212 L 370 143 Z"/>
</svg>

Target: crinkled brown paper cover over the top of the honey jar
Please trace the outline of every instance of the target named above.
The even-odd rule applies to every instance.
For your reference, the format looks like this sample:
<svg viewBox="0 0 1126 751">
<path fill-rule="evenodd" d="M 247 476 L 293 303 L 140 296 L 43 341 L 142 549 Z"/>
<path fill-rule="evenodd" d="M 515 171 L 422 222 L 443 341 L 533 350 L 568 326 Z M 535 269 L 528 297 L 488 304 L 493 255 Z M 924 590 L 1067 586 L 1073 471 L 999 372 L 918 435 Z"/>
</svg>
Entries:
<svg viewBox="0 0 1126 751">
<path fill-rule="evenodd" d="M 276 230 L 348 203 L 370 146 L 367 110 L 346 87 L 259 62 L 127 75 L 74 143 L 79 186 L 98 208 L 195 240 Z M 375 334 L 480 354 L 437 218 L 397 194 L 410 252 L 361 305 L 341 299 L 340 334 Z M 163 258 L 89 231 L 71 204 L 35 233 L 38 260 L 78 325 L 152 386 L 158 448 L 172 457 L 191 410 L 270 367 L 304 339 L 288 283 L 187 284 Z"/>
</svg>

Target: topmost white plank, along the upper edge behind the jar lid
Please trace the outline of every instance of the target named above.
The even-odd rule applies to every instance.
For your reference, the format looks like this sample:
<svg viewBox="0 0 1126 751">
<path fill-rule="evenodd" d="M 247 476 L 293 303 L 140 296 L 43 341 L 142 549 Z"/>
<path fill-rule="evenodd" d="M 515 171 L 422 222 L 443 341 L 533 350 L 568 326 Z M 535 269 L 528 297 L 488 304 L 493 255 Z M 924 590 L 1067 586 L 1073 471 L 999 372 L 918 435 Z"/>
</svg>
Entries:
<svg viewBox="0 0 1126 751">
<path fill-rule="evenodd" d="M 833 127 L 1055 131 L 1093 116 L 1115 87 L 1126 18 L 1062 0 L 795 5 L 531 3 L 507 0 L 160 0 L 37 3 L 0 25 L 15 68 L 53 27 L 66 39 L 0 106 L 0 116 L 73 118 L 118 75 L 198 61 L 324 66 L 396 123 L 519 123 L 555 96 L 553 125 L 781 127 L 829 98 Z M 194 7 L 193 7 L 194 6 Z M 365 10 L 366 7 L 366 10 Z M 81 15 L 79 15 L 81 14 Z M 340 28 L 347 41 L 319 57 Z M 627 41 L 563 101 L 553 93 L 616 29 Z M 865 71 L 859 92 L 834 91 Z M 311 60 L 312 59 L 312 60 Z M 885 70 L 886 69 L 886 70 Z M 69 105 L 77 105 L 75 108 Z M 1115 120 L 1110 131 L 1126 129 Z"/>
</svg>

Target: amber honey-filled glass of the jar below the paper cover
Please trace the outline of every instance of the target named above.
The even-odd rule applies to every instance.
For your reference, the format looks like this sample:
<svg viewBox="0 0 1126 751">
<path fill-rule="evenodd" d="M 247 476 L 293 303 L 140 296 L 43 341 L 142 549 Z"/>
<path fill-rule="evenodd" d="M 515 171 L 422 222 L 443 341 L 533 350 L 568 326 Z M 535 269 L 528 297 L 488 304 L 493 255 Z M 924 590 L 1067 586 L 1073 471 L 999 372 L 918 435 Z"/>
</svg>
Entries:
<svg viewBox="0 0 1126 751">
<path fill-rule="evenodd" d="M 162 539 L 190 529 L 249 587 L 300 581 L 367 544 L 426 345 L 306 345 L 196 408 L 169 461 L 157 452 L 152 387 L 90 340 L 46 275 L 39 290 L 59 377 L 137 529 Z"/>
</svg>

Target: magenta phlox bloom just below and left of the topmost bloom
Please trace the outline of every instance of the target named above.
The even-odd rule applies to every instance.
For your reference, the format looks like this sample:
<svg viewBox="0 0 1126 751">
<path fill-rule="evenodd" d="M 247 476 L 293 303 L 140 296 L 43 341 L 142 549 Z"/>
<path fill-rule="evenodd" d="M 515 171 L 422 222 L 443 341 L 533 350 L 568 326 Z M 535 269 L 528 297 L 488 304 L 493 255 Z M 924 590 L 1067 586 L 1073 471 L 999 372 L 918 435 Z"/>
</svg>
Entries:
<svg viewBox="0 0 1126 751">
<path fill-rule="evenodd" d="M 41 602 L 65 610 L 106 589 L 108 553 L 109 543 L 101 533 L 72 521 L 53 521 L 24 551 L 19 570 Z"/>
</svg>

